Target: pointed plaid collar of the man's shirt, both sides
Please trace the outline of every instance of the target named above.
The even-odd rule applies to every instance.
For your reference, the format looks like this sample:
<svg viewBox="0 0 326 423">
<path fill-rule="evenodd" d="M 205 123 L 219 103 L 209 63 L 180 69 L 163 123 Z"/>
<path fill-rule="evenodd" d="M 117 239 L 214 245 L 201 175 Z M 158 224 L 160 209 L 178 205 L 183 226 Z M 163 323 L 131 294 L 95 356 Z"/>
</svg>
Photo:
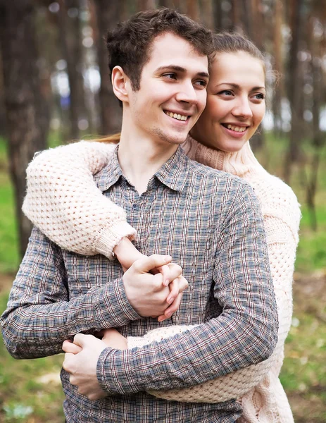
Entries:
<svg viewBox="0 0 326 423">
<path fill-rule="evenodd" d="M 187 182 L 189 159 L 184 154 L 182 147 L 178 147 L 168 161 L 155 173 L 158 180 L 168 188 L 175 191 L 182 191 Z M 118 146 L 115 148 L 111 160 L 105 168 L 94 176 L 96 185 L 101 192 L 108 190 L 119 178 L 123 177 L 123 171 L 118 161 Z"/>
</svg>

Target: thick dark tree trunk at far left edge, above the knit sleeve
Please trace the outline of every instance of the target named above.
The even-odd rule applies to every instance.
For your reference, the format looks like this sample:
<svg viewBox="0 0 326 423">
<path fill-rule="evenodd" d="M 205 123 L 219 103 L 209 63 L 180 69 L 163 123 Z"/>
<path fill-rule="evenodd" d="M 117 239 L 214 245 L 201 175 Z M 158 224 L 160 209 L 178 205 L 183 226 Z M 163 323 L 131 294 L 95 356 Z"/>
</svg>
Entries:
<svg viewBox="0 0 326 423">
<path fill-rule="evenodd" d="M 24 255 L 31 223 L 21 207 L 26 190 L 26 167 L 35 152 L 46 147 L 49 116 L 39 89 L 39 71 L 32 0 L 0 0 L 0 43 L 11 178 Z"/>
</svg>

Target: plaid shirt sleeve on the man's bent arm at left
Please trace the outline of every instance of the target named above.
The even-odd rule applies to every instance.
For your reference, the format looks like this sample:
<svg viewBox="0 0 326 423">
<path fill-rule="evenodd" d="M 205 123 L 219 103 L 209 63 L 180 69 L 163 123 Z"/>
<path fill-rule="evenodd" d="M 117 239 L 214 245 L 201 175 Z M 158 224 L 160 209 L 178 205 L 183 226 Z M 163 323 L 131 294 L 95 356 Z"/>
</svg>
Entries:
<svg viewBox="0 0 326 423">
<path fill-rule="evenodd" d="M 61 249 L 34 228 L 1 316 L 6 347 L 15 358 L 62 353 L 65 339 L 140 319 L 125 295 L 122 279 L 68 298 Z"/>
</svg>

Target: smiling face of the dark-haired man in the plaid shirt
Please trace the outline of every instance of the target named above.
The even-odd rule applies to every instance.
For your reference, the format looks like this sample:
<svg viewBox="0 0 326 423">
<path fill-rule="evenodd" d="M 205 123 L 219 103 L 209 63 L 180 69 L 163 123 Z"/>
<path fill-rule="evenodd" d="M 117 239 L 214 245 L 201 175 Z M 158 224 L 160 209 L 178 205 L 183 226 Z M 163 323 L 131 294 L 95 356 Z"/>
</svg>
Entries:
<svg viewBox="0 0 326 423">
<path fill-rule="evenodd" d="M 144 137 L 179 145 L 206 105 L 208 59 L 166 32 L 153 40 L 140 89 L 130 92 L 130 118 Z"/>
</svg>

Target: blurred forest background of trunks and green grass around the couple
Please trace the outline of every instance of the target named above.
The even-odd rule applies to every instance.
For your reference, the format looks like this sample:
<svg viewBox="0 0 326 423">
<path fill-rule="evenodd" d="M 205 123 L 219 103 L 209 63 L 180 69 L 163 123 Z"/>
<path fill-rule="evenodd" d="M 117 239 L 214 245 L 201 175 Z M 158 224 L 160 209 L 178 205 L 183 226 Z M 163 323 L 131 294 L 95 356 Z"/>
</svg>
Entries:
<svg viewBox="0 0 326 423">
<path fill-rule="evenodd" d="M 21 212 L 28 162 L 47 147 L 118 130 L 106 30 L 158 6 L 245 33 L 277 72 L 268 73 L 268 113 L 251 145 L 294 189 L 303 215 L 281 381 L 296 423 L 325 422 L 325 0 L 0 0 L 0 313 L 30 234 Z M 62 360 L 15 361 L 0 342 L 0 422 L 64 422 Z"/>
</svg>

